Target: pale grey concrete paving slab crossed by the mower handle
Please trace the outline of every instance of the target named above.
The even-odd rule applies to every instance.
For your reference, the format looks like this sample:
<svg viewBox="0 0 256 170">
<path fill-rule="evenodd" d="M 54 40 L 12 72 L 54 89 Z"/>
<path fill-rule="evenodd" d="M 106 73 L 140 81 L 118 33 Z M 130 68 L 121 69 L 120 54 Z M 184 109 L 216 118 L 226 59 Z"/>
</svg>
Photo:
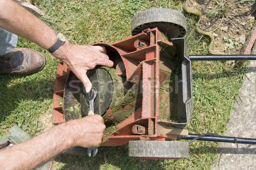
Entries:
<svg viewBox="0 0 256 170">
<path fill-rule="evenodd" d="M 254 45 L 252 54 L 256 54 Z M 244 86 L 230 115 L 225 136 L 256 138 L 256 62 L 249 61 Z M 256 145 L 221 143 L 212 170 L 255 170 Z"/>
</svg>

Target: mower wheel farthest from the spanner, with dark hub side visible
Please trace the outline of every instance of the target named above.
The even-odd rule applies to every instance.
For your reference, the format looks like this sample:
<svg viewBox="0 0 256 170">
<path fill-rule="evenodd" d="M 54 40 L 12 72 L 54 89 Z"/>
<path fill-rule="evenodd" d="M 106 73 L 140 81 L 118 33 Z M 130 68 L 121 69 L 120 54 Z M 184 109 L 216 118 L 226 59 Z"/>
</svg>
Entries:
<svg viewBox="0 0 256 170">
<path fill-rule="evenodd" d="M 145 28 L 158 28 L 168 39 L 184 37 L 186 17 L 169 8 L 152 8 L 141 11 L 131 19 L 131 34 L 137 35 Z"/>
</svg>

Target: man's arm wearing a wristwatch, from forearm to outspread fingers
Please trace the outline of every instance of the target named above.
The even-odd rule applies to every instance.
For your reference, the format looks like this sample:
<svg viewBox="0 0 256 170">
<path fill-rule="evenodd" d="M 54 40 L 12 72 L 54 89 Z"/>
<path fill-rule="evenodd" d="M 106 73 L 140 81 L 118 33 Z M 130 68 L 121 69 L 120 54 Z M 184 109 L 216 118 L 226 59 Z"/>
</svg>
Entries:
<svg viewBox="0 0 256 170">
<path fill-rule="evenodd" d="M 0 0 L 0 27 L 44 49 L 50 48 L 57 41 L 56 31 L 12 0 Z M 83 82 L 88 93 L 91 83 L 86 71 L 96 65 L 113 66 L 105 53 L 104 46 L 72 45 L 66 40 L 52 55 L 68 65 Z"/>
</svg>

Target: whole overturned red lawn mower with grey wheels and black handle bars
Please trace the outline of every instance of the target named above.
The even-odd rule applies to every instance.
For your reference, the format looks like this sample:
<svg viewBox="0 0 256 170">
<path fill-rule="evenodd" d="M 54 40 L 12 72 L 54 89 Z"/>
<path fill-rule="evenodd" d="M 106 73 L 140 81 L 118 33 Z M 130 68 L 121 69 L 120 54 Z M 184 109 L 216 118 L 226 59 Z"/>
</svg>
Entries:
<svg viewBox="0 0 256 170">
<path fill-rule="evenodd" d="M 113 68 L 97 66 L 88 71 L 88 78 L 97 92 L 94 113 L 100 114 L 106 125 L 102 145 L 129 143 L 129 156 L 143 159 L 188 158 L 189 142 L 175 139 L 215 141 L 218 137 L 193 136 L 184 129 L 193 110 L 191 60 L 207 60 L 207 56 L 189 56 L 183 38 L 186 18 L 172 9 L 152 8 L 136 14 L 132 18 L 131 33 L 133 36 L 125 40 L 93 44 L 104 45 L 114 62 Z M 225 60 L 232 57 L 256 58 L 253 55 L 226 56 Z M 212 56 L 208 60 L 224 59 Z M 53 125 L 87 116 L 88 95 L 67 65 L 59 62 Z M 217 142 L 220 140 L 239 141 L 236 138 Z M 255 142 L 254 139 L 244 140 Z M 87 152 L 87 148 L 74 147 L 64 153 Z"/>
</svg>

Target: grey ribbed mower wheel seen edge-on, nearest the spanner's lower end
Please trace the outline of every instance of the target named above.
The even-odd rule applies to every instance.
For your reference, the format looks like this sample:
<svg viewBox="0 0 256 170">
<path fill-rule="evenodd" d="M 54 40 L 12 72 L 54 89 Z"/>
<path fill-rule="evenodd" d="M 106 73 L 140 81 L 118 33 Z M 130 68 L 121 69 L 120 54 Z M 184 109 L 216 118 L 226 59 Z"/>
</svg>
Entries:
<svg viewBox="0 0 256 170">
<path fill-rule="evenodd" d="M 188 158 L 189 143 L 182 141 L 130 141 L 129 156 L 151 159 Z"/>
</svg>

